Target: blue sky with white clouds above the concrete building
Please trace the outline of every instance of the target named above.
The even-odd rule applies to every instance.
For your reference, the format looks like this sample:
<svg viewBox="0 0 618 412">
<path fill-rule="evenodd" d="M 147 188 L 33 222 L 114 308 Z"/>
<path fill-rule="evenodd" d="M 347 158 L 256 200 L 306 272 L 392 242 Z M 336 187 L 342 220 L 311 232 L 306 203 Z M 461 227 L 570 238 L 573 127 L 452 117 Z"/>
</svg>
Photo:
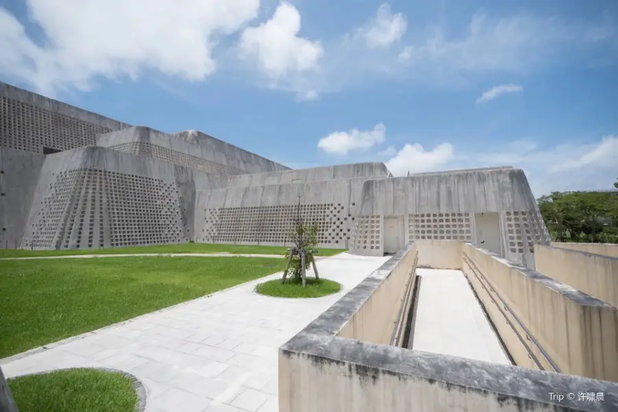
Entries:
<svg viewBox="0 0 618 412">
<path fill-rule="evenodd" d="M 0 0 L 0 55 L 5 82 L 293 168 L 618 176 L 611 0 Z"/>
</svg>

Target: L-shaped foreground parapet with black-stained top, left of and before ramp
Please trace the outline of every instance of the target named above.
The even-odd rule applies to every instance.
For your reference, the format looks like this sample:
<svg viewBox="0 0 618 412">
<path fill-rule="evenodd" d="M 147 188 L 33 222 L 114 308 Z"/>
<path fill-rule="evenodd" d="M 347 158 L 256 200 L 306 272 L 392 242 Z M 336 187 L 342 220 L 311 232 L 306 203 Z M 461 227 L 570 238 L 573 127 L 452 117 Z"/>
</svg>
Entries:
<svg viewBox="0 0 618 412">
<path fill-rule="evenodd" d="M 610 411 L 618 385 L 338 336 L 358 310 L 393 282 L 397 253 L 279 349 L 279 411 Z M 390 302 L 386 303 L 387 305 Z M 383 311 L 385 316 L 391 312 Z M 359 318 L 360 319 L 360 318 Z M 374 321 L 373 318 L 365 318 Z M 391 319 L 384 319 L 387 323 Z M 374 339 L 368 328 L 358 337 Z M 369 331 L 370 332 L 370 331 Z M 378 339 L 380 339 L 378 337 Z M 605 401 L 552 399 L 549 393 L 604 393 Z"/>
</svg>

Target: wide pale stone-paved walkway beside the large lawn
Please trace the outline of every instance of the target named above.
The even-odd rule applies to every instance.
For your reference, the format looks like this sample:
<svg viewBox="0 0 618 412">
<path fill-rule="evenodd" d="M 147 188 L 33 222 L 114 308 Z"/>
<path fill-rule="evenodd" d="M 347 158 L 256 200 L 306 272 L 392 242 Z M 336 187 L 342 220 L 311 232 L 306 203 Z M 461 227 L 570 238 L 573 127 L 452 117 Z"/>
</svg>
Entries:
<svg viewBox="0 0 618 412">
<path fill-rule="evenodd" d="M 343 285 L 336 295 L 266 297 L 253 292 L 260 279 L 0 363 L 7 377 L 122 369 L 144 383 L 148 412 L 276 412 L 279 346 L 388 258 L 343 253 L 321 260 L 320 275 Z"/>
</svg>

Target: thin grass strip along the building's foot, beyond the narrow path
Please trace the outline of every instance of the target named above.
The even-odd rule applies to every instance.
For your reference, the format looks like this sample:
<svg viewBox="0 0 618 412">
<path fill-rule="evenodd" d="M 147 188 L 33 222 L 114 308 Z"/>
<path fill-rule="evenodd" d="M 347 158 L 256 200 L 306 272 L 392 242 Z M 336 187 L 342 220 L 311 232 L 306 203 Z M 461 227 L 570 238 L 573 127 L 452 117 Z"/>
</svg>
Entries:
<svg viewBox="0 0 618 412">
<path fill-rule="evenodd" d="M 113 255 L 115 253 L 255 253 L 260 255 L 284 255 L 286 247 L 258 246 L 244 244 L 155 244 L 152 246 L 115 247 L 111 249 L 65 249 L 51 251 L 28 251 L 23 249 L 0 249 L 0 258 L 25 258 L 28 256 L 67 256 L 67 255 Z M 343 253 L 343 249 L 319 249 L 318 256 L 332 256 Z"/>
</svg>

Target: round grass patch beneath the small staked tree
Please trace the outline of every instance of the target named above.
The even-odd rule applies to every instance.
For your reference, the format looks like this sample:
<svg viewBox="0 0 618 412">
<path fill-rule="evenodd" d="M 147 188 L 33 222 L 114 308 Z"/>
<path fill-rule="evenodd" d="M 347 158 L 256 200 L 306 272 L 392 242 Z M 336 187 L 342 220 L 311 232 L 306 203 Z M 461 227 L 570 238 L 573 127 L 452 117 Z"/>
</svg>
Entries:
<svg viewBox="0 0 618 412">
<path fill-rule="evenodd" d="M 341 285 L 328 279 L 308 277 L 304 288 L 299 279 L 288 279 L 282 284 L 281 279 L 264 282 L 255 287 L 255 291 L 268 296 L 276 297 L 321 297 L 331 295 L 341 290 Z"/>
</svg>

